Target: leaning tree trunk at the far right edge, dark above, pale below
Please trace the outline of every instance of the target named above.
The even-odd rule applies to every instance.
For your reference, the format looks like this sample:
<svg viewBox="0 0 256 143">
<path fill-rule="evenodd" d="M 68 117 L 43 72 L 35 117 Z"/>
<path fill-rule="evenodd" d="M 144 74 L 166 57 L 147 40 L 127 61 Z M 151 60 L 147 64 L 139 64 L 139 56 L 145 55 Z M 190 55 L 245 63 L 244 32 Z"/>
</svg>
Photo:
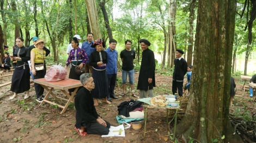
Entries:
<svg viewBox="0 0 256 143">
<path fill-rule="evenodd" d="M 248 1 L 248 9 L 249 10 L 249 1 Z M 245 54 L 245 70 L 243 75 L 247 75 L 247 63 L 248 63 L 248 59 L 249 59 L 249 55 L 251 54 L 252 51 L 252 27 L 253 27 L 253 21 L 256 18 L 256 1 L 252 1 L 252 10 L 251 10 L 251 14 L 250 14 L 250 20 L 248 21 L 247 25 L 248 25 L 248 40 L 247 40 L 247 48 L 246 48 L 246 54 Z M 247 28 L 246 25 L 246 28 Z M 245 30 L 246 30 L 245 28 Z"/>
</svg>

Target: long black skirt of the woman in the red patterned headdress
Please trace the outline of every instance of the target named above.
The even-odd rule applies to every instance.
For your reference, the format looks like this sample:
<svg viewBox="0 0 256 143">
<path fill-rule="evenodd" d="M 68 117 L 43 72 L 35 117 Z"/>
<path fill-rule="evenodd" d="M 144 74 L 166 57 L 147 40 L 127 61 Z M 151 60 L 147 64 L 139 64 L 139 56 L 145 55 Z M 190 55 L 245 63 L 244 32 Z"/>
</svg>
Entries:
<svg viewBox="0 0 256 143">
<path fill-rule="evenodd" d="M 93 68 L 93 80 L 95 84 L 93 98 L 103 99 L 108 94 L 107 70 Z"/>
</svg>

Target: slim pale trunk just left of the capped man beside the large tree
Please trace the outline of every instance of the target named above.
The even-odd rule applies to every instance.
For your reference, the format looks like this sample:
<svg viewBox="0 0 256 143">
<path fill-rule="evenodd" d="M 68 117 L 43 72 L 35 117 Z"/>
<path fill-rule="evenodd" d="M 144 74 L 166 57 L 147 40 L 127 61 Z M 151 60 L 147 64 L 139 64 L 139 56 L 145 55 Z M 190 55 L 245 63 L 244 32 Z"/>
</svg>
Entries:
<svg viewBox="0 0 256 143">
<path fill-rule="evenodd" d="M 173 56 L 176 51 L 176 42 L 174 42 L 175 35 L 175 15 L 176 15 L 176 0 L 169 1 L 168 8 L 168 17 L 169 17 L 169 25 L 168 25 L 168 67 L 173 67 L 174 59 Z"/>
</svg>

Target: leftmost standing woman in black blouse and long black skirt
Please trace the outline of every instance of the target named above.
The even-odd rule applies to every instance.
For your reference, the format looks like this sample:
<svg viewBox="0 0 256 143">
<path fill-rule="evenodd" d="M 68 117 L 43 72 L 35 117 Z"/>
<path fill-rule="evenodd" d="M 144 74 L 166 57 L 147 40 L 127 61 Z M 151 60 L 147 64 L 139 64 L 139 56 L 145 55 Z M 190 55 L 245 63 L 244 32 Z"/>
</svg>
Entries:
<svg viewBox="0 0 256 143">
<path fill-rule="evenodd" d="M 30 89 L 30 73 L 28 61 L 30 60 L 30 53 L 28 48 L 23 46 L 23 38 L 16 38 L 16 45 L 13 49 L 13 56 L 10 57 L 11 61 L 17 61 L 16 67 L 11 78 L 11 91 L 14 92 L 14 95 L 10 97 L 14 99 L 17 94 L 27 91 L 24 99 L 29 98 L 29 89 Z"/>
</svg>

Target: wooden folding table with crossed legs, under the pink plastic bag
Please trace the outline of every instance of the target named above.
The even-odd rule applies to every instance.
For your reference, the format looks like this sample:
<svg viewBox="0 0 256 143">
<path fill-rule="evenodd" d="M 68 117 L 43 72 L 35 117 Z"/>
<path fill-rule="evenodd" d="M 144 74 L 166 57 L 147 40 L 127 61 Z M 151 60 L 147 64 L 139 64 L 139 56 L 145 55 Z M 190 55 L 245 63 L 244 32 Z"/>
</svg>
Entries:
<svg viewBox="0 0 256 143">
<path fill-rule="evenodd" d="M 74 96 L 75 96 L 78 88 L 83 86 L 80 81 L 73 80 L 73 79 L 64 79 L 64 80 L 60 80 L 60 81 L 46 81 L 45 78 L 42 78 L 42 79 L 35 79 L 34 82 L 39 83 L 48 92 L 46 94 L 44 100 L 42 100 L 42 102 L 40 103 L 40 105 L 44 102 L 51 103 L 52 105 L 58 105 L 57 103 L 47 100 L 50 94 L 56 99 L 61 99 L 61 100 L 67 101 L 65 106 L 58 105 L 58 107 L 63 108 L 63 110 L 60 114 L 62 114 L 66 111 L 66 108 L 68 108 L 70 102 L 74 102 Z M 50 87 L 50 89 L 48 87 Z M 67 100 L 67 99 L 60 98 L 60 97 L 56 96 L 54 93 L 52 93 L 52 90 L 54 88 L 60 89 L 69 99 Z M 66 92 L 66 90 L 68 90 L 70 88 L 76 88 L 75 91 L 71 94 L 71 96 Z"/>
</svg>

